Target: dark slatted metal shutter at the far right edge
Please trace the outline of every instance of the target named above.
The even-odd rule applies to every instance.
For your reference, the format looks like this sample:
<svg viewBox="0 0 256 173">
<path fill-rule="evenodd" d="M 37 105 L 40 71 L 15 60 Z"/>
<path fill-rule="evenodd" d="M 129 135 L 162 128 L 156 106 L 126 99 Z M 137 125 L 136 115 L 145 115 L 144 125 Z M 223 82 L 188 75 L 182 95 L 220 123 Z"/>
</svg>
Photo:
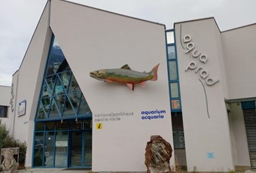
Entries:
<svg viewBox="0 0 256 173">
<path fill-rule="evenodd" d="M 251 168 L 256 168 L 256 110 L 245 109 L 242 111 L 245 120 Z"/>
</svg>

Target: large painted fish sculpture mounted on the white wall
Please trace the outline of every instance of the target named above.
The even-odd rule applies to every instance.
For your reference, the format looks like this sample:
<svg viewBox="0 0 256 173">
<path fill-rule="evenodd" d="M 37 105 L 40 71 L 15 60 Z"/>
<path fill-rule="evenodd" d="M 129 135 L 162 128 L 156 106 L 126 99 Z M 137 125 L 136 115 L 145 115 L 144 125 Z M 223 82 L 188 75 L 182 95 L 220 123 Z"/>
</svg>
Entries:
<svg viewBox="0 0 256 173">
<path fill-rule="evenodd" d="M 134 90 L 134 85 L 139 84 L 145 87 L 147 80 L 157 80 L 157 69 L 160 64 L 157 64 L 149 72 L 133 71 L 129 65 L 123 65 L 121 68 L 101 69 L 90 72 L 90 77 L 97 80 L 103 80 L 109 83 L 124 83 L 131 90 Z"/>
</svg>

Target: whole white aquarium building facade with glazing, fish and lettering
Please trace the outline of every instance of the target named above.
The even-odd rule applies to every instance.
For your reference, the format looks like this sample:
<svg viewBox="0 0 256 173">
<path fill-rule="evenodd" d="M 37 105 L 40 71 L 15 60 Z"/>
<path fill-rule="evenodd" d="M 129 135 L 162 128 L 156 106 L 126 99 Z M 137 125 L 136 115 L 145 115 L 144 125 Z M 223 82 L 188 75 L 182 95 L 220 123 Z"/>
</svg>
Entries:
<svg viewBox="0 0 256 173">
<path fill-rule="evenodd" d="M 146 143 L 161 135 L 173 167 L 255 168 L 255 27 L 221 32 L 211 17 L 166 30 L 49 1 L 12 86 L 0 88 L 2 122 L 26 141 L 27 167 L 145 171 Z M 99 81 L 109 69 L 118 74 Z M 157 80 L 126 85 L 123 71 Z"/>
</svg>

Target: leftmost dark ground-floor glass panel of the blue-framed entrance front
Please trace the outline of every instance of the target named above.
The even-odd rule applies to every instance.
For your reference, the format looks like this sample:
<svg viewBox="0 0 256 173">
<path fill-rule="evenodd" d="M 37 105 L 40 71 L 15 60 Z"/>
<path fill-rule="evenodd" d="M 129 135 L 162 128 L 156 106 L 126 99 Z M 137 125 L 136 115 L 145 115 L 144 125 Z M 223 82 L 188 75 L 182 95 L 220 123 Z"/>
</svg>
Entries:
<svg viewBox="0 0 256 173">
<path fill-rule="evenodd" d="M 44 132 L 35 132 L 33 166 L 43 166 L 44 157 Z"/>
</svg>

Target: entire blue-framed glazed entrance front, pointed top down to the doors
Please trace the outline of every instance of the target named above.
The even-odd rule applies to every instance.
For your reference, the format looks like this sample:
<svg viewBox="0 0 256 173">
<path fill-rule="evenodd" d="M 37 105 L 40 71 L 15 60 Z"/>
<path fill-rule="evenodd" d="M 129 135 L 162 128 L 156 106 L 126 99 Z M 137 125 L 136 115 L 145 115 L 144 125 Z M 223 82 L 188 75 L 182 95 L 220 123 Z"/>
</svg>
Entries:
<svg viewBox="0 0 256 173">
<path fill-rule="evenodd" d="M 35 132 L 32 166 L 40 168 L 91 167 L 92 113 L 78 82 L 53 35 L 42 80 Z M 73 134 L 81 144 L 72 153 Z M 75 136 L 75 135 L 74 135 Z M 74 147 L 74 146 L 73 146 Z M 75 148 L 74 147 L 74 148 Z M 75 150 L 75 149 L 74 149 Z M 80 152 L 79 152 L 80 151 Z M 82 158 L 77 164 L 76 158 Z"/>
</svg>

